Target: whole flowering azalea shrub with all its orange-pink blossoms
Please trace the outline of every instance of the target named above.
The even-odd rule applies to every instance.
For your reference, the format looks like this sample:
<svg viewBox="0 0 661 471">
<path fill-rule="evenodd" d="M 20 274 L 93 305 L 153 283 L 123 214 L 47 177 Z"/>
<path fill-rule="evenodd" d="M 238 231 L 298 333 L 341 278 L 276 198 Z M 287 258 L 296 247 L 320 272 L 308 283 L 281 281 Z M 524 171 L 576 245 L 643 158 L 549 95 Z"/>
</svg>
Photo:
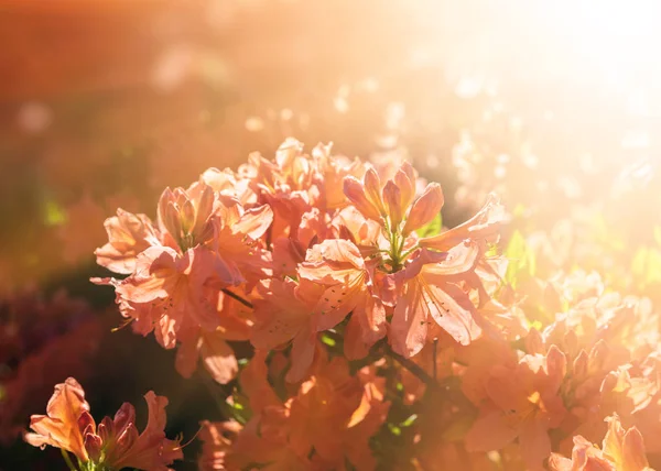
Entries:
<svg viewBox="0 0 661 471">
<path fill-rule="evenodd" d="M 495 195 L 452 229 L 443 205 L 407 162 L 306 154 L 289 139 L 272 160 L 165 189 L 155 221 L 106 220 L 96 258 L 118 277 L 93 281 L 115 288 L 126 325 L 175 349 L 183 377 L 202 365 L 230 384 L 227 420 L 201 424 L 199 469 L 658 461 L 651 302 L 544 263 L 544 234 L 499 244 L 509 216 Z M 128 404 L 96 425 L 68 379 L 25 439 L 61 448 L 72 469 L 166 469 L 182 446 L 163 432 L 166 399 L 145 398 L 141 435 Z"/>
</svg>

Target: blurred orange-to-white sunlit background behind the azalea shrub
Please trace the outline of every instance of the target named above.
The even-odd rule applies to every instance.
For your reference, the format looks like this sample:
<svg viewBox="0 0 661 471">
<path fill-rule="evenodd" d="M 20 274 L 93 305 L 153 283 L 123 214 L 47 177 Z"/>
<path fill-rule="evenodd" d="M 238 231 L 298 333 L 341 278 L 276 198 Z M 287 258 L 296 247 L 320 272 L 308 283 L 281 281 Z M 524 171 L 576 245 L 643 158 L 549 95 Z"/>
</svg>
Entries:
<svg viewBox="0 0 661 471">
<path fill-rule="evenodd" d="M 411 160 L 448 227 L 497 191 L 508 230 L 552 234 L 550 266 L 658 293 L 660 20 L 654 0 L 0 1 L 0 470 L 57 469 L 20 436 L 68 375 L 98 418 L 144 416 L 150 388 L 171 435 L 220 417 L 220 386 L 111 332 L 93 251 L 118 207 L 154 217 L 166 186 L 289 135 Z"/>
</svg>

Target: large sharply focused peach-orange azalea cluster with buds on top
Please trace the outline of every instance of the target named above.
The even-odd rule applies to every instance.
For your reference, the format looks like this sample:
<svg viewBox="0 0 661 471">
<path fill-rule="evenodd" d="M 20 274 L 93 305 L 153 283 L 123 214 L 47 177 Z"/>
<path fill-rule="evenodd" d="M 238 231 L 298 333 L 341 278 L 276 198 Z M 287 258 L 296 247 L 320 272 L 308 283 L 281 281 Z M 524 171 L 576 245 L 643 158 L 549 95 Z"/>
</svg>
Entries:
<svg viewBox="0 0 661 471">
<path fill-rule="evenodd" d="M 442 207 L 441 187 L 423 186 L 408 163 L 380 174 L 289 140 L 272 161 L 253 154 L 238 172 L 212 168 L 166 189 L 155 223 L 118 210 L 96 254 L 129 276 L 96 282 L 115 286 L 137 332 L 178 348 L 186 377 L 199 357 L 227 383 L 238 371 L 227 341 L 250 340 L 260 350 L 291 342 L 286 374 L 300 382 L 330 329 L 353 360 L 386 337 L 408 358 L 441 330 L 462 344 L 481 335 L 503 211 L 490 198 L 465 224 L 426 230 Z"/>
</svg>

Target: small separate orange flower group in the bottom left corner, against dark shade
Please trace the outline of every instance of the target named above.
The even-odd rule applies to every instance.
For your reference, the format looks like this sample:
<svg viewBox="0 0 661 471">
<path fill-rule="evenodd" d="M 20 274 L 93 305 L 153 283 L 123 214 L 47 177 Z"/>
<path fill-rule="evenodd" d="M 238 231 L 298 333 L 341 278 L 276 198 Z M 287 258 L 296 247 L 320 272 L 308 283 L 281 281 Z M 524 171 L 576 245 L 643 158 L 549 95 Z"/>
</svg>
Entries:
<svg viewBox="0 0 661 471">
<path fill-rule="evenodd" d="M 178 441 L 165 438 L 167 398 L 152 391 L 144 398 L 149 420 L 142 434 L 136 428 L 136 410 L 124 403 L 115 419 L 105 417 L 98 425 L 89 414 L 83 387 L 73 377 L 55 386 L 46 407 L 47 415 L 33 415 L 25 441 L 35 447 L 62 448 L 80 462 L 91 461 L 110 469 L 137 468 L 166 471 L 167 464 L 183 458 Z"/>
</svg>

